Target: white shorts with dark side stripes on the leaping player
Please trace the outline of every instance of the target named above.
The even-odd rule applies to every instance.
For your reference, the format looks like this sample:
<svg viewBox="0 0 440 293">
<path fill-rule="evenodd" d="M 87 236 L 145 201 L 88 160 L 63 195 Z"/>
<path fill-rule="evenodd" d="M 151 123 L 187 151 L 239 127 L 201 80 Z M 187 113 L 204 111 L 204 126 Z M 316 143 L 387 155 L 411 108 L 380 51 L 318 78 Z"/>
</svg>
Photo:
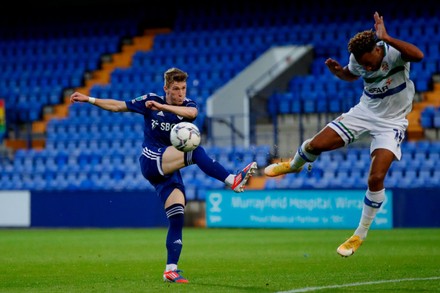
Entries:
<svg viewBox="0 0 440 293">
<path fill-rule="evenodd" d="M 372 138 L 370 153 L 375 149 L 387 149 L 393 152 L 397 160 L 400 160 L 402 157 L 400 144 L 405 138 L 408 120 L 380 118 L 362 104 L 357 104 L 347 113 L 328 123 L 327 126 L 339 134 L 345 145 L 369 134 Z"/>
</svg>

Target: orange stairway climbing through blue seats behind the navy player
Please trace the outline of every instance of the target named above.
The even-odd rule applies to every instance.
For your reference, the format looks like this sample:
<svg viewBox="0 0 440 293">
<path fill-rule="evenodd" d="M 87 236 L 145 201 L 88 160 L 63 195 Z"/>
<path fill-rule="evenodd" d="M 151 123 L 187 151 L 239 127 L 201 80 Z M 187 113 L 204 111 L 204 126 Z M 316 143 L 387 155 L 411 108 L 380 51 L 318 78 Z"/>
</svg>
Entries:
<svg viewBox="0 0 440 293">
<path fill-rule="evenodd" d="M 74 91 L 80 91 L 89 94 L 90 88 L 94 85 L 105 85 L 110 82 L 111 72 L 115 68 L 127 68 L 131 66 L 131 60 L 135 52 L 148 51 L 153 46 L 156 34 L 168 33 L 168 28 L 146 29 L 141 36 L 133 37 L 129 42 L 123 44 L 121 52 L 114 53 L 110 56 L 108 62 L 102 63 L 102 69 L 96 70 L 90 74 L 90 78 L 85 81 L 84 87 L 76 88 Z M 42 120 L 34 121 L 31 129 L 31 146 L 28 146 L 26 139 L 7 139 L 6 147 L 17 150 L 28 147 L 34 149 L 43 149 L 45 147 L 45 134 L 47 123 L 54 118 L 60 119 L 67 117 L 70 106 L 70 93 L 64 97 L 64 102 L 53 106 L 51 113 L 45 113 Z"/>
</svg>

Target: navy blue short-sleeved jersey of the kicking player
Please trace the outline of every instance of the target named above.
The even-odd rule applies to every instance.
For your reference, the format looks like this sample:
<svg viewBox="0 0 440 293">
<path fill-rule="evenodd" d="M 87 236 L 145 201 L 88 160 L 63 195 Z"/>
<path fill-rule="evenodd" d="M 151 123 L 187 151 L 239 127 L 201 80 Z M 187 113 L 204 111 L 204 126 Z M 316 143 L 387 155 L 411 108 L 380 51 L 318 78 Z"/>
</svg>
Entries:
<svg viewBox="0 0 440 293">
<path fill-rule="evenodd" d="M 179 122 L 193 122 L 194 119 L 190 120 L 183 118 L 171 112 L 148 109 L 145 106 L 145 103 L 149 100 L 156 101 L 160 104 L 167 104 L 165 97 L 158 96 L 154 93 L 149 93 L 137 97 L 136 99 L 125 101 L 129 111 L 144 115 L 144 142 L 142 143 L 142 147 L 155 146 L 160 148 L 170 146 L 171 128 Z M 197 103 L 191 99 L 185 98 L 182 106 L 197 108 Z"/>
</svg>

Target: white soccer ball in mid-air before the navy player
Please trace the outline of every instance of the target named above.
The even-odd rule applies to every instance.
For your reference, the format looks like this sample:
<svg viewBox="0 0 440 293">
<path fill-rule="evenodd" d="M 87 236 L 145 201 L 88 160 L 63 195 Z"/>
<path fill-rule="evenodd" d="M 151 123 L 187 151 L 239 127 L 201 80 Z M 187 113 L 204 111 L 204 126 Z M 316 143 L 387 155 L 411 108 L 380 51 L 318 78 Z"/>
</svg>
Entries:
<svg viewBox="0 0 440 293">
<path fill-rule="evenodd" d="M 190 122 L 177 123 L 171 128 L 170 140 L 179 151 L 192 151 L 200 144 L 199 128 Z"/>
</svg>

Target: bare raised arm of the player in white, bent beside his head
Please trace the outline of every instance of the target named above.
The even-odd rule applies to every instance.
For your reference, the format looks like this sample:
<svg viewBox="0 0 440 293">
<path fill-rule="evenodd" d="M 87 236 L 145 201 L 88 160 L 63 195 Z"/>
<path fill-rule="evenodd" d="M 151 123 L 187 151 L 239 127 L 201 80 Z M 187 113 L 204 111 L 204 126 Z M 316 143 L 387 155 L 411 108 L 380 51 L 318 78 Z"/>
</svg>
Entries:
<svg viewBox="0 0 440 293">
<path fill-rule="evenodd" d="M 423 59 L 423 52 L 417 46 L 393 38 L 387 33 L 383 16 L 380 16 L 377 12 L 374 13 L 374 29 L 376 30 L 377 38 L 396 48 L 402 54 L 403 60 L 408 62 L 419 62 Z"/>
</svg>

